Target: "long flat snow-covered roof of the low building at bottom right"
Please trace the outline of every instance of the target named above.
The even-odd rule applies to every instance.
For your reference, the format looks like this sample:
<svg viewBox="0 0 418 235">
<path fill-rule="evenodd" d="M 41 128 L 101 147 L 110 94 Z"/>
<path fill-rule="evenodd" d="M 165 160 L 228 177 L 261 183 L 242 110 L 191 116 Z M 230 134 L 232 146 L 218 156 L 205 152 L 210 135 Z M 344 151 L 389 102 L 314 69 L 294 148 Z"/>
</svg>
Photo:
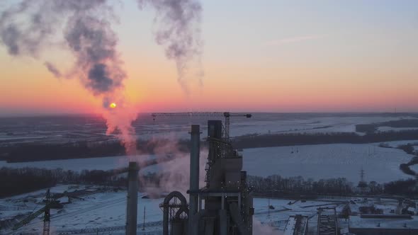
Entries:
<svg viewBox="0 0 418 235">
<path fill-rule="evenodd" d="M 350 216 L 350 229 L 418 229 L 418 217 L 389 215 Z"/>
</svg>

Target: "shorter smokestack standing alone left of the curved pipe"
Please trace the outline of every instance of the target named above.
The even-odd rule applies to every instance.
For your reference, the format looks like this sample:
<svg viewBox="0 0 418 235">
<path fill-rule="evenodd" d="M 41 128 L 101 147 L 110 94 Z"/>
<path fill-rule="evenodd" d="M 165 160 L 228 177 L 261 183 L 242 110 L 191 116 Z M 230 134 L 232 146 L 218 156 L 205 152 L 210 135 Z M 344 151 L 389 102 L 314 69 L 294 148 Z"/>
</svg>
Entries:
<svg viewBox="0 0 418 235">
<path fill-rule="evenodd" d="M 126 235 L 137 234 L 138 165 L 130 161 L 128 166 L 128 200 L 126 203 Z"/>
</svg>

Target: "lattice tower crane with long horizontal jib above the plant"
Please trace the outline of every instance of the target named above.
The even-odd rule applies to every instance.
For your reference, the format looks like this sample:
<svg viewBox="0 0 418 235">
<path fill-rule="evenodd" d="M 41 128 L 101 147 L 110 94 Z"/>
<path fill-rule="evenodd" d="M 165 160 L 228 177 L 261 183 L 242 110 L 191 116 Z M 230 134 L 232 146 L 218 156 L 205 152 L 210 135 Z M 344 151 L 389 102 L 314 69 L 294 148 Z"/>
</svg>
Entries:
<svg viewBox="0 0 418 235">
<path fill-rule="evenodd" d="M 152 120 L 159 116 L 164 117 L 225 117 L 225 132 L 224 138 L 230 142 L 230 117 L 252 117 L 252 114 L 247 113 L 230 113 L 230 112 L 185 112 L 185 113 L 152 113 Z"/>
</svg>

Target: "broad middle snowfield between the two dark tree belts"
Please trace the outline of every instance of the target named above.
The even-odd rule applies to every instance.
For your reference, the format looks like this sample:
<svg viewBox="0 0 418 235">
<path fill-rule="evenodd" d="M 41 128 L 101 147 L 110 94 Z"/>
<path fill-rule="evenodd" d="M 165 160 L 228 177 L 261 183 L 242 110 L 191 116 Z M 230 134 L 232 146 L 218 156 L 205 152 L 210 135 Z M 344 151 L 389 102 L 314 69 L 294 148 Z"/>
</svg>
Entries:
<svg viewBox="0 0 418 235">
<path fill-rule="evenodd" d="M 418 140 L 401 142 L 385 142 L 390 147 L 400 144 L 417 143 Z M 412 155 L 400 149 L 379 147 L 373 144 L 319 144 L 301 145 L 295 147 L 271 147 L 244 149 L 244 171 L 252 176 L 303 176 L 304 178 L 339 178 L 344 177 L 356 183 L 359 180 L 361 168 L 366 171 L 366 180 L 387 182 L 408 178 L 399 169 L 399 165 L 407 163 Z M 207 152 L 200 154 L 205 161 Z M 114 156 L 93 159 L 68 159 L 55 161 L 35 161 L 26 163 L 7 164 L 0 161 L 1 166 L 20 168 L 25 166 L 39 168 L 63 168 L 64 170 L 81 171 L 84 169 L 111 170 L 128 166 L 128 161 L 146 161 L 154 159 L 152 155 Z M 169 161 L 166 163 L 143 168 L 140 173 L 169 170 L 170 166 L 188 166 L 186 161 Z M 202 167 L 203 168 L 203 167 Z M 412 168 L 416 168 L 412 166 Z"/>
</svg>

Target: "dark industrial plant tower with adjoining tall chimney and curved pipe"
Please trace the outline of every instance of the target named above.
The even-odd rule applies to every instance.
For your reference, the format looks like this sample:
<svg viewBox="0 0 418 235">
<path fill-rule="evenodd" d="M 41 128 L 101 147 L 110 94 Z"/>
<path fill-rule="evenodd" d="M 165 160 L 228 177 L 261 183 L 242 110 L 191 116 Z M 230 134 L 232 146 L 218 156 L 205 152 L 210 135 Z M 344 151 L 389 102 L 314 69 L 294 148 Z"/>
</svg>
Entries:
<svg viewBox="0 0 418 235">
<path fill-rule="evenodd" d="M 165 198 L 160 205 L 164 235 L 252 234 L 254 208 L 247 172 L 222 130 L 222 121 L 208 121 L 205 185 L 199 188 L 200 127 L 191 126 L 189 205 L 177 191 Z"/>
</svg>

